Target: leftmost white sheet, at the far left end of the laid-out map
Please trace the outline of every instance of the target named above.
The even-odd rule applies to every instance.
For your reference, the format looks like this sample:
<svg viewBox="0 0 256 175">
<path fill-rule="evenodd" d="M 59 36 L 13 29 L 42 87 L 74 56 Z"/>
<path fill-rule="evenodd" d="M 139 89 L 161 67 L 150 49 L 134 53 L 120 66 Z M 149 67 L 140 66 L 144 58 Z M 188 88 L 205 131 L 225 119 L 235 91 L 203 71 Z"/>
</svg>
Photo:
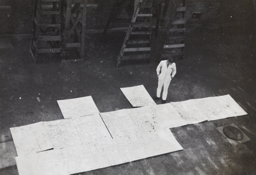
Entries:
<svg viewBox="0 0 256 175">
<path fill-rule="evenodd" d="M 49 150 L 53 147 L 42 122 L 10 128 L 17 155 Z"/>
</svg>

